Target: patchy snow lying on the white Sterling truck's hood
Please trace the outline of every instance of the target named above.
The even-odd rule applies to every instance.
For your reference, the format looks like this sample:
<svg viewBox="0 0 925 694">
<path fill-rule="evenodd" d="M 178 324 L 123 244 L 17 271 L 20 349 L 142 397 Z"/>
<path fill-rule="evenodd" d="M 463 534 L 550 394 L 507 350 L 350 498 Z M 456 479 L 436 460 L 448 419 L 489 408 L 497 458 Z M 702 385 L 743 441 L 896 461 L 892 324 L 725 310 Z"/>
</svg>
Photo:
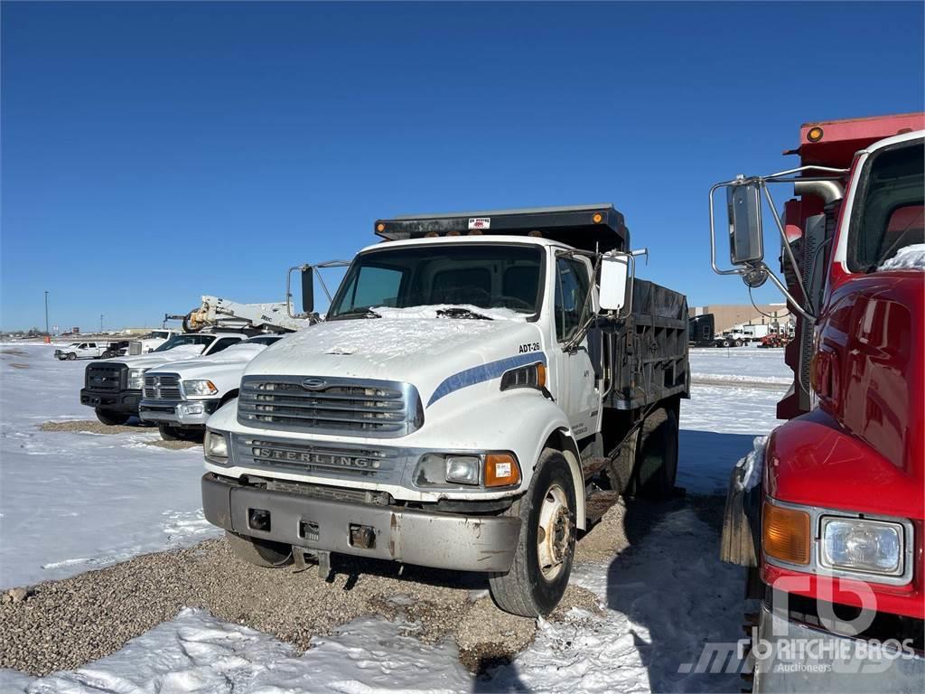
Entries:
<svg viewBox="0 0 925 694">
<path fill-rule="evenodd" d="M 438 311 L 450 308 L 474 311 L 491 320 L 449 318 Z M 314 353 L 363 354 L 371 359 L 400 357 L 413 353 L 446 353 L 447 340 L 476 340 L 503 324 L 524 322 L 522 314 L 507 308 L 478 308 L 470 305 L 439 304 L 412 308 L 376 307 L 380 318 L 353 318 L 319 323 L 300 330 L 273 347 L 276 354 L 297 353 L 302 347 Z"/>
</svg>

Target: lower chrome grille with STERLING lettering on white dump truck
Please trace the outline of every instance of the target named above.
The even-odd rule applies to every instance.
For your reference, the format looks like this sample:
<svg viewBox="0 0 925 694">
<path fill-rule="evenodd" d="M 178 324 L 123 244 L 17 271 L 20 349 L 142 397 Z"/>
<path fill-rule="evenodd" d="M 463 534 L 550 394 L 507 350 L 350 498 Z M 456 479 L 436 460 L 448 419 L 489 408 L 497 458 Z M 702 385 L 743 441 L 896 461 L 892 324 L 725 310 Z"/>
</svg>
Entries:
<svg viewBox="0 0 925 694">
<path fill-rule="evenodd" d="M 232 435 L 234 465 L 290 470 L 319 477 L 393 477 L 401 460 L 397 449 L 330 446 L 307 441 Z"/>
</svg>

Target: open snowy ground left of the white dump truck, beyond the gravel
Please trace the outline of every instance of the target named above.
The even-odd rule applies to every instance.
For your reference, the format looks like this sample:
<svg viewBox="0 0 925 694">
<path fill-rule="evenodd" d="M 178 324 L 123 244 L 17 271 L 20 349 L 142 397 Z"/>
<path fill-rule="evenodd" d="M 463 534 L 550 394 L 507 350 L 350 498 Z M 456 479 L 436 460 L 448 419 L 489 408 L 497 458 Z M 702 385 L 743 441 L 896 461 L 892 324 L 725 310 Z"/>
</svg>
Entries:
<svg viewBox="0 0 925 694">
<path fill-rule="evenodd" d="M 200 449 L 148 445 L 156 429 L 42 431 L 93 419 L 85 361 L 52 345 L 0 345 L 0 589 L 72 576 L 215 535 L 200 509 Z"/>
</svg>

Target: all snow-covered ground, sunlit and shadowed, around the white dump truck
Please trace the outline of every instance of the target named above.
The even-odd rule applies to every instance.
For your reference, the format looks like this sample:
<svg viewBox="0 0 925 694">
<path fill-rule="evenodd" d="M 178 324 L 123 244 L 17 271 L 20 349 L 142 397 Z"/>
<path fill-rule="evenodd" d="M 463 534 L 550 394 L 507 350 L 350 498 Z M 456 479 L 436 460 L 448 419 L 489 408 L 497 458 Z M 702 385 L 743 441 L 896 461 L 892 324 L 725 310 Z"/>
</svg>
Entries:
<svg viewBox="0 0 925 694">
<path fill-rule="evenodd" d="M 28 356 L 0 359 L 4 585 L 200 537 L 197 449 L 153 449 L 144 445 L 154 437 L 147 433 L 102 437 L 34 428 L 89 412 L 76 399 L 82 365 L 56 363 L 46 349 L 27 347 Z M 678 484 L 690 492 L 721 492 L 754 436 L 778 424 L 774 405 L 788 372 L 781 350 L 695 350 L 691 363 L 695 385 L 682 404 Z M 697 385 L 698 378 L 709 385 Z M 80 485 L 72 481 L 75 471 Z M 113 483 L 135 476 L 128 489 Z M 691 675 L 683 666 L 697 660 L 705 641 L 740 637 L 741 572 L 716 559 L 717 534 L 694 506 L 656 522 L 634 514 L 630 502 L 627 551 L 607 563 L 577 564 L 573 572 L 573 582 L 592 590 L 603 612 L 573 610 L 564 622 L 541 622 L 534 644 L 490 677 L 470 675 L 452 642 L 425 645 L 413 638 L 414 626 L 401 621 L 356 620 L 314 638 L 313 648 L 300 653 L 245 626 L 186 610 L 73 672 L 33 678 L 0 671 L 0 690 L 737 691 L 738 675 Z M 41 531 L 31 529 L 36 520 Z M 80 564 L 60 564 L 73 559 Z"/>
</svg>

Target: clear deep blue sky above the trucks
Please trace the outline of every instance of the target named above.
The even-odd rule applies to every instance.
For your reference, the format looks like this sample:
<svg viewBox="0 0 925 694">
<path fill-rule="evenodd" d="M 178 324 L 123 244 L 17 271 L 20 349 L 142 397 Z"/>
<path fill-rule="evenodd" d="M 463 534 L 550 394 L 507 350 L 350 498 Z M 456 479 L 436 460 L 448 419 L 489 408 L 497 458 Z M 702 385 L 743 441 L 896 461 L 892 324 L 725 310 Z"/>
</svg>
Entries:
<svg viewBox="0 0 925 694">
<path fill-rule="evenodd" d="M 709 186 L 791 165 L 804 121 L 921 110 L 922 7 L 4 3 L 0 327 L 45 290 L 85 329 L 281 301 L 376 217 L 599 202 L 647 279 L 745 302 Z"/>
</svg>

